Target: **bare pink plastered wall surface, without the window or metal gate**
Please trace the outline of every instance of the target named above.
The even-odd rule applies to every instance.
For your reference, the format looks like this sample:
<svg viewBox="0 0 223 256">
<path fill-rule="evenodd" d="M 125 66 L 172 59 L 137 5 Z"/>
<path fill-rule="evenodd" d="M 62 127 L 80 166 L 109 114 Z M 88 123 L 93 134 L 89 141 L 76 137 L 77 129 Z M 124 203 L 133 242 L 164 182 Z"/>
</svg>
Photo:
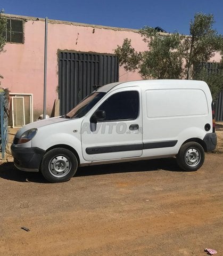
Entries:
<svg viewBox="0 0 223 256">
<path fill-rule="evenodd" d="M 14 18 L 13 15 L 7 15 Z M 0 55 L 0 70 L 4 76 L 2 86 L 11 93 L 33 93 L 34 112 L 43 113 L 44 82 L 44 33 L 45 20 L 18 17 L 24 22 L 24 44 L 6 43 L 6 52 Z M 47 113 L 50 114 L 54 100 L 58 98 L 59 50 L 114 54 L 124 38 L 131 38 L 138 51 L 146 49 L 137 30 L 84 25 L 72 22 L 49 20 L 47 49 Z M 119 81 L 141 79 L 137 73 L 119 71 Z"/>
</svg>

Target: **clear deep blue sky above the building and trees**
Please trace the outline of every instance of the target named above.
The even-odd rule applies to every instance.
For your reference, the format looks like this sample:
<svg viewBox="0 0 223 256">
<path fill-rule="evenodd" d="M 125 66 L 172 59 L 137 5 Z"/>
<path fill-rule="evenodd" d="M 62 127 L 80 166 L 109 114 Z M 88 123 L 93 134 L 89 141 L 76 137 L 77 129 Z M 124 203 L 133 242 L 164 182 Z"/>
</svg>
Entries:
<svg viewBox="0 0 223 256">
<path fill-rule="evenodd" d="M 7 14 L 111 27 L 159 26 L 187 35 L 195 13 L 211 13 L 214 28 L 223 34 L 223 0 L 0 0 L 2 9 Z"/>
</svg>

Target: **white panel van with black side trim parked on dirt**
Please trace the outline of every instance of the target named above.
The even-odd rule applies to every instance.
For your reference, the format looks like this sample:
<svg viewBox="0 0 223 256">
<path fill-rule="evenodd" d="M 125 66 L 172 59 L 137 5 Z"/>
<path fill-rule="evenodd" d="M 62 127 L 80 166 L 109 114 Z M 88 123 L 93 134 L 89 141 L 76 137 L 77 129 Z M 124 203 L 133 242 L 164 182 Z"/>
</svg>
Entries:
<svg viewBox="0 0 223 256">
<path fill-rule="evenodd" d="M 68 114 L 22 127 L 11 146 L 14 164 L 50 182 L 69 180 L 78 166 L 162 157 L 197 170 L 204 151 L 216 148 L 213 114 L 202 81 L 107 84 Z"/>
</svg>

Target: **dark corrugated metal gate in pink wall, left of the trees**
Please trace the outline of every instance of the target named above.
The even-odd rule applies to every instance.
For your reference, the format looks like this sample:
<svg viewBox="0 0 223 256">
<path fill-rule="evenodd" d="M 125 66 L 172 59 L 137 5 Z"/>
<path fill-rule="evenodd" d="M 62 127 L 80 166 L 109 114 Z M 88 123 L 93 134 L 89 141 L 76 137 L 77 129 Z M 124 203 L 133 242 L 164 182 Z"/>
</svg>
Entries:
<svg viewBox="0 0 223 256">
<path fill-rule="evenodd" d="M 60 114 L 68 113 L 94 85 L 118 82 L 119 63 L 114 55 L 59 52 Z"/>
</svg>

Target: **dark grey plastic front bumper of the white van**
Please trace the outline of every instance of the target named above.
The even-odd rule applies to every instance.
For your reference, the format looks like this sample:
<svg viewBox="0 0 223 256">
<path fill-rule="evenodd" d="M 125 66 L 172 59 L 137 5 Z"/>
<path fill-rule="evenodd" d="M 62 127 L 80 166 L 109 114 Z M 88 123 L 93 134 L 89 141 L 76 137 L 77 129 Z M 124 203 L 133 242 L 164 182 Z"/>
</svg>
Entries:
<svg viewBox="0 0 223 256">
<path fill-rule="evenodd" d="M 43 149 L 18 148 L 11 146 L 12 156 L 14 157 L 14 165 L 21 171 L 38 172 L 45 151 Z"/>
</svg>

